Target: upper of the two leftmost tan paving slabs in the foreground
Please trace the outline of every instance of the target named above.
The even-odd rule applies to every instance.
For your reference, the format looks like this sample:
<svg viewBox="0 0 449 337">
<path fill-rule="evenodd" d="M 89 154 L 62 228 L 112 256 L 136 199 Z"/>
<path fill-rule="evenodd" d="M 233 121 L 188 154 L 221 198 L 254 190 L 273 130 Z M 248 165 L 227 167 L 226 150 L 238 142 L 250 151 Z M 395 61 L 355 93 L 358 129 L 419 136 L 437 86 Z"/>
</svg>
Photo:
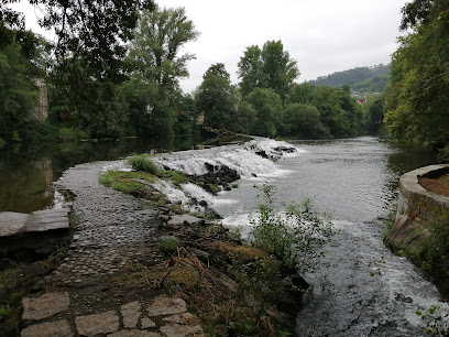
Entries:
<svg viewBox="0 0 449 337">
<path fill-rule="evenodd" d="M 22 300 L 22 319 L 39 320 L 64 312 L 70 304 L 70 296 L 65 293 L 46 293 L 37 297 Z"/>
</svg>

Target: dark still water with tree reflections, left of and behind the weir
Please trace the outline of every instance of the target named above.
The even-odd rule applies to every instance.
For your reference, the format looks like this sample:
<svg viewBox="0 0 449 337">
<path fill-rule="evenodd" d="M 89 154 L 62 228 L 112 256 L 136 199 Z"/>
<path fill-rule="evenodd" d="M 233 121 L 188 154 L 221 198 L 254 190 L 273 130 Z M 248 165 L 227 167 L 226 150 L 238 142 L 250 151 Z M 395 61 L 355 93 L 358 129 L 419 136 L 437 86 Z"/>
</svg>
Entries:
<svg viewBox="0 0 449 337">
<path fill-rule="evenodd" d="M 0 150 L 0 211 L 31 213 L 52 205 L 52 182 L 68 167 L 143 152 L 196 149 L 197 137 L 123 139 L 108 142 L 64 142 Z"/>
</svg>

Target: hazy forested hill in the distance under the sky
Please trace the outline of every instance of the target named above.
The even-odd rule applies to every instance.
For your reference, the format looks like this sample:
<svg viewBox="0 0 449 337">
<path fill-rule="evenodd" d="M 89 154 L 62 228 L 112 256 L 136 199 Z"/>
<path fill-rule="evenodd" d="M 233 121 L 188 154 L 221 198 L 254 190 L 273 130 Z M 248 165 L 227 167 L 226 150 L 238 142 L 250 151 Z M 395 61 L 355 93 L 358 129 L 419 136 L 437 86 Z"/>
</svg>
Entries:
<svg viewBox="0 0 449 337">
<path fill-rule="evenodd" d="M 344 72 L 336 72 L 308 81 L 311 85 L 327 85 L 340 88 L 350 85 L 352 90 L 360 93 L 380 93 L 388 84 L 390 66 L 375 65 L 372 67 L 357 67 Z"/>
</svg>

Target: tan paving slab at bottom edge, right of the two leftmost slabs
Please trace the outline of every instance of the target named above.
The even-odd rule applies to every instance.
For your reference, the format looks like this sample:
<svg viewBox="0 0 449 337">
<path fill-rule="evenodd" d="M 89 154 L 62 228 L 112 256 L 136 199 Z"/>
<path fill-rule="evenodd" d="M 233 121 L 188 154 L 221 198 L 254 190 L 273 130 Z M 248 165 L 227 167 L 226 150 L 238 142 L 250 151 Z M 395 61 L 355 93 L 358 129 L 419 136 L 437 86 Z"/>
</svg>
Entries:
<svg viewBox="0 0 449 337">
<path fill-rule="evenodd" d="M 98 334 L 116 333 L 119 329 L 119 316 L 110 311 L 102 314 L 78 316 L 75 318 L 79 335 L 95 336 Z"/>
</svg>

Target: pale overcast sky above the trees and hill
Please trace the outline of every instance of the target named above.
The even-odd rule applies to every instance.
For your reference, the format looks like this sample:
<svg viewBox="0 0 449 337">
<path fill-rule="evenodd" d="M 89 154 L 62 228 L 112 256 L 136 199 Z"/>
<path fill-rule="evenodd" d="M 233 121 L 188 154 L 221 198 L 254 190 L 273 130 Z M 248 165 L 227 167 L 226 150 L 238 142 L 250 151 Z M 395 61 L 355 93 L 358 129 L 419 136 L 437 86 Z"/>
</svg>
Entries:
<svg viewBox="0 0 449 337">
<path fill-rule="evenodd" d="M 223 63 L 238 81 L 237 64 L 250 45 L 281 40 L 297 61 L 298 83 L 333 72 L 387 64 L 396 50 L 401 8 L 406 0 L 156 0 L 161 8 L 184 7 L 200 36 L 186 45 L 196 55 L 186 93 L 202 74 Z M 35 17 L 29 13 L 29 28 Z M 48 36 L 48 35 L 47 35 Z"/>
</svg>

